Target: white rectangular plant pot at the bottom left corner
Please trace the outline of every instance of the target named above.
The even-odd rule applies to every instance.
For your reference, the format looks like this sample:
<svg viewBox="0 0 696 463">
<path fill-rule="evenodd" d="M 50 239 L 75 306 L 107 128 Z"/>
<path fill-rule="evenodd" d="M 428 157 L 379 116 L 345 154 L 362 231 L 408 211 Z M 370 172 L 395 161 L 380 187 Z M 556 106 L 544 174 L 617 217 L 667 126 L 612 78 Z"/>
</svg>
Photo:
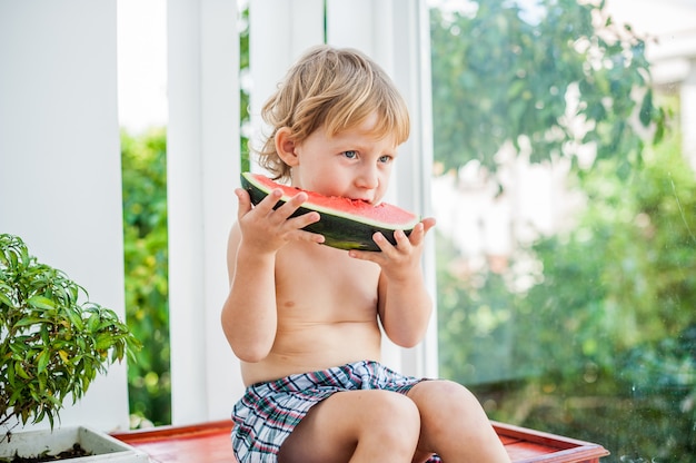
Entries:
<svg viewBox="0 0 696 463">
<path fill-rule="evenodd" d="M 20 431 L 12 433 L 10 441 L 7 437 L 0 445 L 0 459 L 11 459 L 14 455 L 37 456 L 44 452 L 57 455 L 72 449 L 77 443 L 90 456 L 68 459 L 67 463 L 109 462 L 109 463 L 147 463 L 146 453 L 111 437 L 99 431 L 83 426 L 61 427 L 53 431 Z"/>
</svg>

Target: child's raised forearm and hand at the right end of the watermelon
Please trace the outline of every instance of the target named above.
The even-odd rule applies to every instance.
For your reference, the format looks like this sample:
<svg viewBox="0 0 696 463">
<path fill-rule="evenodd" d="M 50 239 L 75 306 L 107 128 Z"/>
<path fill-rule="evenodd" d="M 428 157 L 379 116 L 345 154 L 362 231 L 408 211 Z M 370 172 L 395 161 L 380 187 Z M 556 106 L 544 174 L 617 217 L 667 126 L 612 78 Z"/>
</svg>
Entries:
<svg viewBox="0 0 696 463">
<path fill-rule="evenodd" d="M 381 267 L 379 316 L 387 336 L 402 347 L 412 347 L 422 339 L 432 313 L 420 256 L 425 236 L 434 226 L 435 219 L 426 218 L 408 237 L 402 232 L 396 232 L 396 246 L 377 234 L 375 242 L 381 253 L 350 252 L 352 257 L 375 262 Z"/>
</svg>

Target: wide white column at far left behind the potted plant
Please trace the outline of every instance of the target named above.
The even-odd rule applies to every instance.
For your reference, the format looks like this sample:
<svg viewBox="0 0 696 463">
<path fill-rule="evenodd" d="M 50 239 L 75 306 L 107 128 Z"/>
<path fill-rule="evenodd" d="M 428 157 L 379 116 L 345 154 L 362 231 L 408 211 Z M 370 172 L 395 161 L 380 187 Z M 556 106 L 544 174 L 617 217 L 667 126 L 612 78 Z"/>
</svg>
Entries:
<svg viewBox="0 0 696 463">
<path fill-rule="evenodd" d="M 0 233 L 123 317 L 116 16 L 115 0 L 0 0 Z M 66 405 L 63 426 L 128 428 L 126 365 Z"/>
</svg>

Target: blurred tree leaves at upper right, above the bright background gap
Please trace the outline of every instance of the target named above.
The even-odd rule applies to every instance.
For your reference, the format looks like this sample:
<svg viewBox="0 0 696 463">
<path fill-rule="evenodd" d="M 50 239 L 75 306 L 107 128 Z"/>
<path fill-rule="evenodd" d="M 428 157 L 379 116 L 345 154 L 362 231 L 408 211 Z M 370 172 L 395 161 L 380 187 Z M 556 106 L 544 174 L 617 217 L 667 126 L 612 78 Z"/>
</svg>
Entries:
<svg viewBox="0 0 696 463">
<path fill-rule="evenodd" d="M 530 160 L 640 160 L 637 130 L 664 128 L 653 104 L 645 42 L 603 6 L 539 0 L 536 8 L 478 1 L 474 13 L 431 10 L 435 158 L 446 170 L 471 159 L 496 171 L 511 144 Z"/>
</svg>

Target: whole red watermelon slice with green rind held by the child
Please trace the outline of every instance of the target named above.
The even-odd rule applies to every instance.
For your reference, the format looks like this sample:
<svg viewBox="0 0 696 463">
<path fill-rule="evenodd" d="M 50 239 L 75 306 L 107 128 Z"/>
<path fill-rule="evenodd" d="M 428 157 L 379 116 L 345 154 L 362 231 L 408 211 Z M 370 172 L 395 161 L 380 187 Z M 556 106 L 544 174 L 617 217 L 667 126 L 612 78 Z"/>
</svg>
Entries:
<svg viewBox="0 0 696 463">
<path fill-rule="evenodd" d="M 274 189 L 280 188 L 282 197 L 276 207 L 280 207 L 301 191 L 299 188 L 280 185 L 264 175 L 252 173 L 241 174 L 241 186 L 249 191 L 253 205 L 259 204 Z M 390 204 L 380 203 L 374 206 L 358 199 L 329 197 L 306 190 L 305 193 L 309 198 L 292 216 L 311 210 L 319 213 L 321 219 L 305 229 L 324 235 L 325 245 L 339 249 L 379 250 L 372 240 L 376 232 L 381 232 L 392 245 L 396 245 L 395 230 L 404 230 L 408 236 L 420 221 L 415 214 Z"/>
</svg>

